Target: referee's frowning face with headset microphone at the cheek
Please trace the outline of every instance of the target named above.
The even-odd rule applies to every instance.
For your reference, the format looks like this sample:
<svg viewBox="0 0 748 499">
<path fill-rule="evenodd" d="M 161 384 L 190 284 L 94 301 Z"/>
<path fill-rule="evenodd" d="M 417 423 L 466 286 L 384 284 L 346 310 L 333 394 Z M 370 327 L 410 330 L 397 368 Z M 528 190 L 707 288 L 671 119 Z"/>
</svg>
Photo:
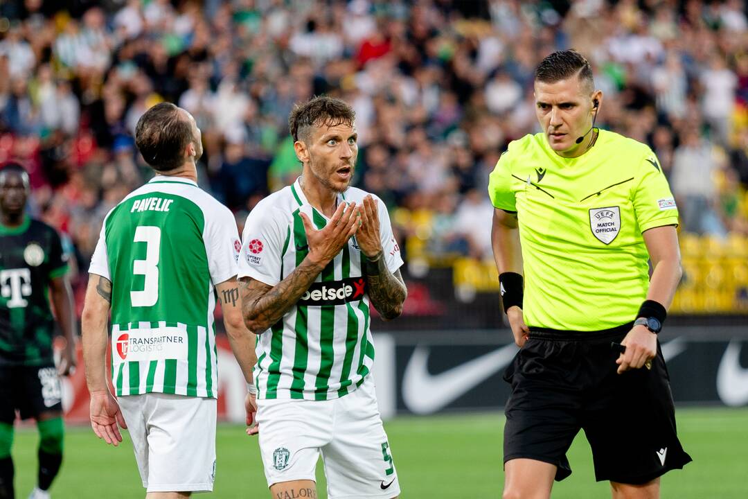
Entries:
<svg viewBox="0 0 748 499">
<path fill-rule="evenodd" d="M 573 158 L 586 150 L 589 134 L 584 134 L 596 111 L 592 100 L 601 102 L 601 98 L 601 91 L 592 92 L 576 75 L 554 83 L 535 82 L 535 112 L 548 144 L 559 156 Z"/>
</svg>

